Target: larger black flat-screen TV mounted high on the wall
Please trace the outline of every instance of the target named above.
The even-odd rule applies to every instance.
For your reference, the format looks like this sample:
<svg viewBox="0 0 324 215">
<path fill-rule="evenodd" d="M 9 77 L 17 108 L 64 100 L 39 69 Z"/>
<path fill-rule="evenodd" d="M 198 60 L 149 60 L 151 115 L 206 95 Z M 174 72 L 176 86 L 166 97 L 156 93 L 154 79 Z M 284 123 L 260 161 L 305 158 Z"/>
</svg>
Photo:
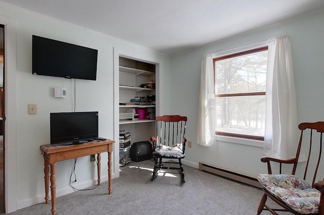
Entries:
<svg viewBox="0 0 324 215">
<path fill-rule="evenodd" d="M 32 74 L 96 80 L 98 50 L 32 35 Z"/>
</svg>

